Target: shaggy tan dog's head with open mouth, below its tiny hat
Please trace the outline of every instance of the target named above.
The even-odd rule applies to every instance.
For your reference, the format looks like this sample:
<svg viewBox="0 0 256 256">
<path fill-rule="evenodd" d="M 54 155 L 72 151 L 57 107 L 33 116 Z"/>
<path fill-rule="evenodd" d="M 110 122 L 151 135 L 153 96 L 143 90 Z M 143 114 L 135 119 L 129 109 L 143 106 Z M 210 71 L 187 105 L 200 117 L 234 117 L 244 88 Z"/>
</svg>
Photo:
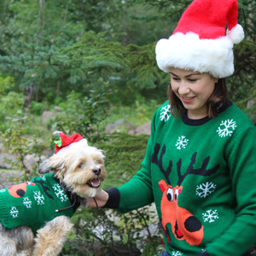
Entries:
<svg viewBox="0 0 256 256">
<path fill-rule="evenodd" d="M 107 177 L 102 150 L 84 143 L 83 147 L 62 151 L 44 160 L 38 172 L 53 171 L 72 193 L 82 198 L 94 197 Z"/>
</svg>

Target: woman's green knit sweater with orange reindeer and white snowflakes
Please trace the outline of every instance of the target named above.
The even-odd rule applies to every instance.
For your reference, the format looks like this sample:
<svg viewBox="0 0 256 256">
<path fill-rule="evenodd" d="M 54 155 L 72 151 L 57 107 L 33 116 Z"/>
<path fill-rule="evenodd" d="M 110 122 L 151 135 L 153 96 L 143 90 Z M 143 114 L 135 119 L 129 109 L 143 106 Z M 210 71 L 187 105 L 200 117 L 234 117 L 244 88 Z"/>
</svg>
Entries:
<svg viewBox="0 0 256 256">
<path fill-rule="evenodd" d="M 142 169 L 119 188 L 119 212 L 155 202 L 170 255 L 241 256 L 256 240 L 256 129 L 231 102 L 219 111 L 174 119 L 162 105 Z"/>
</svg>

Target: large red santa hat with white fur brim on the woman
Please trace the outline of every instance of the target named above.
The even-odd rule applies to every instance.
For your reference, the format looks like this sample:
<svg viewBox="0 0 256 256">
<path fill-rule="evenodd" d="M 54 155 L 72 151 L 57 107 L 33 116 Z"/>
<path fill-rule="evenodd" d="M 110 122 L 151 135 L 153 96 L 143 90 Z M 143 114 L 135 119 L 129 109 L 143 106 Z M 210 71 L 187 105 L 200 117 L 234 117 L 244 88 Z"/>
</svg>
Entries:
<svg viewBox="0 0 256 256">
<path fill-rule="evenodd" d="M 172 36 L 156 44 L 158 67 L 166 73 L 177 67 L 218 79 L 230 76 L 234 73 L 233 45 L 244 38 L 237 16 L 236 0 L 193 1 Z"/>
</svg>

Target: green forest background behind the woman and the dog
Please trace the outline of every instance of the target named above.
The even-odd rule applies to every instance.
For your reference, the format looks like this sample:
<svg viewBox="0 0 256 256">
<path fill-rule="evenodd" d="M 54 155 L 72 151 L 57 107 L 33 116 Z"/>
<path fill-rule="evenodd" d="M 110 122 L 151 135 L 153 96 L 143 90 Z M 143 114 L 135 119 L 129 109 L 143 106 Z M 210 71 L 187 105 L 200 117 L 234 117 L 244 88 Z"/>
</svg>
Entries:
<svg viewBox="0 0 256 256">
<path fill-rule="evenodd" d="M 45 150 L 54 153 L 55 130 L 78 132 L 105 151 L 103 189 L 129 180 L 140 168 L 148 135 L 132 136 L 125 127 L 109 135 L 105 128 L 117 119 L 143 125 L 167 100 L 170 78 L 157 67 L 154 47 L 172 35 L 191 2 L 1 0 L 1 142 L 16 158 L 6 161 L 23 173 L 9 182 L 37 175 Z M 234 47 L 236 71 L 227 84 L 230 100 L 255 123 L 256 1 L 238 3 L 245 39 Z M 61 111 L 43 124 L 42 113 L 55 106 Z M 38 157 L 33 172 L 26 155 Z M 79 208 L 61 255 L 154 255 L 162 249 L 160 231 L 150 230 L 158 226 L 154 217 L 151 208 L 125 215 L 100 209 L 100 217 Z"/>
</svg>

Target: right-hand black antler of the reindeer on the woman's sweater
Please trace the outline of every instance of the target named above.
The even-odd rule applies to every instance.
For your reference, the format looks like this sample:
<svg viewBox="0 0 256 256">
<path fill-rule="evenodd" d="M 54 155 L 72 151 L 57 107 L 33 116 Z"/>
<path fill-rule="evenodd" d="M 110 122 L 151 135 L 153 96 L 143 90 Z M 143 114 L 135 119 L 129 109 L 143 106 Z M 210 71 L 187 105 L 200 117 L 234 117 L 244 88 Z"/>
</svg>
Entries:
<svg viewBox="0 0 256 256">
<path fill-rule="evenodd" d="M 177 185 L 180 185 L 182 182 L 183 182 L 183 179 L 188 176 L 189 174 L 196 174 L 196 175 L 201 175 L 201 176 L 210 176 L 212 175 L 213 173 L 217 172 L 218 169 L 219 169 L 219 166 L 220 165 L 216 165 L 216 166 L 213 166 L 212 169 L 208 169 L 207 170 L 207 166 L 208 166 L 208 163 L 210 161 L 210 156 L 207 156 L 207 158 L 205 158 L 203 160 L 203 163 L 201 165 L 201 168 L 199 169 L 194 169 L 194 164 L 195 164 L 195 158 L 196 158 L 196 154 L 197 152 L 195 152 L 195 154 L 192 155 L 192 158 L 191 158 L 191 162 L 189 164 L 189 167 L 188 167 L 188 170 L 185 174 L 181 174 L 181 166 L 182 166 L 182 160 L 180 159 L 178 162 L 177 162 L 177 176 L 178 176 L 178 182 L 177 182 Z"/>
</svg>

